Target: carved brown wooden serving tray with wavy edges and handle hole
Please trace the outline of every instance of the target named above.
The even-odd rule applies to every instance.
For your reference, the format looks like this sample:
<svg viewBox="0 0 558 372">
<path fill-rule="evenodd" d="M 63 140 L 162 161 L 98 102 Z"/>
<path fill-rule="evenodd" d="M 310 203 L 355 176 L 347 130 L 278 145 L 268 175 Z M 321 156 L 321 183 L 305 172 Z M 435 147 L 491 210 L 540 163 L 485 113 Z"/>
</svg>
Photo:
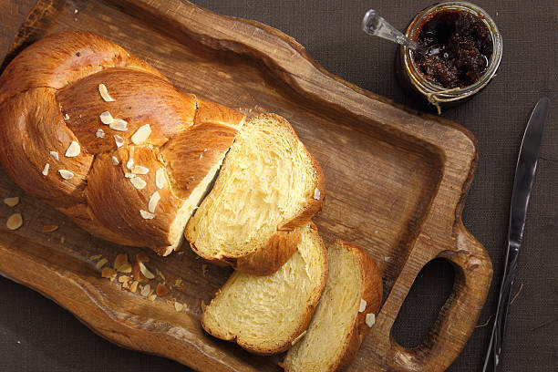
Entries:
<svg viewBox="0 0 558 372">
<path fill-rule="evenodd" d="M 315 222 L 334 237 L 364 247 L 384 279 L 377 323 L 349 370 L 445 370 L 476 325 L 491 283 L 491 261 L 461 222 L 477 161 L 476 140 L 438 117 L 398 107 L 320 67 L 293 38 L 257 22 L 216 15 L 179 0 L 40 0 L 15 36 L 15 54 L 49 33 L 85 29 L 145 58 L 185 91 L 241 110 L 288 119 L 326 177 L 324 211 Z M 279 371 L 281 356 L 253 356 L 206 335 L 201 304 L 209 303 L 229 269 L 207 266 L 187 244 L 161 258 L 147 252 L 171 294 L 149 301 L 100 277 L 101 254 L 141 252 L 96 239 L 0 172 L 0 274 L 45 294 L 98 335 L 168 356 L 203 371 Z M 5 218 L 21 212 L 11 232 Z M 47 224 L 60 227 L 43 233 Z M 420 269 L 443 257 L 453 263 L 453 292 L 424 342 L 399 346 L 390 336 Z M 163 282 L 160 275 L 151 286 Z M 177 312 L 171 297 L 186 305 Z M 37 313 L 37 315 L 39 315 Z"/>
</svg>

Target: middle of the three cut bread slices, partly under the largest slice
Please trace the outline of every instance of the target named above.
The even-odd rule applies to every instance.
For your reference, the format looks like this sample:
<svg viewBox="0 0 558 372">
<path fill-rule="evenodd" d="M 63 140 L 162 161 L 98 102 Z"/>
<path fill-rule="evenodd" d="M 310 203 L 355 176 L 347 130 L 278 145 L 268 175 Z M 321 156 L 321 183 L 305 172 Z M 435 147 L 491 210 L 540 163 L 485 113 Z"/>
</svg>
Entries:
<svg viewBox="0 0 558 372">
<path fill-rule="evenodd" d="M 296 252 L 274 274 L 234 272 L 204 309 L 203 328 L 257 354 L 291 347 L 310 323 L 327 277 L 327 251 L 314 223 L 301 235 Z"/>
</svg>

